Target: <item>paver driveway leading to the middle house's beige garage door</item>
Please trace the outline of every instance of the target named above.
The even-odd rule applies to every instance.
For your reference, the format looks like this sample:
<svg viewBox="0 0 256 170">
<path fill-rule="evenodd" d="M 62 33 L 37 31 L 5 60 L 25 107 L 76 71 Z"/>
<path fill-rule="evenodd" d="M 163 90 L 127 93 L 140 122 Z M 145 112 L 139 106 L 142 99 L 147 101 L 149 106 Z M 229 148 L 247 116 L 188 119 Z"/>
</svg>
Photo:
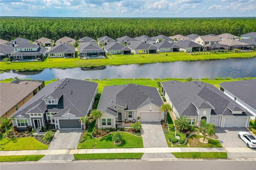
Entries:
<svg viewBox="0 0 256 170">
<path fill-rule="evenodd" d="M 144 148 L 168 148 L 160 122 L 141 122 Z"/>
</svg>

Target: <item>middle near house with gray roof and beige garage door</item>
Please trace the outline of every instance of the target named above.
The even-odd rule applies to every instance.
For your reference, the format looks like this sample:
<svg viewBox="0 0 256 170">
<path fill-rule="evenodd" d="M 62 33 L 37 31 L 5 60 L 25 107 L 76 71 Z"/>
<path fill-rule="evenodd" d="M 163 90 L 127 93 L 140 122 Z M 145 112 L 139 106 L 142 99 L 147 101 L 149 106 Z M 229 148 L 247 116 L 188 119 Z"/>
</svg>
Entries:
<svg viewBox="0 0 256 170">
<path fill-rule="evenodd" d="M 159 111 L 163 105 L 158 90 L 154 87 L 127 84 L 112 85 L 103 88 L 98 110 L 103 116 L 98 127 L 116 128 L 116 122 L 122 121 L 160 121 L 164 112 Z"/>
</svg>

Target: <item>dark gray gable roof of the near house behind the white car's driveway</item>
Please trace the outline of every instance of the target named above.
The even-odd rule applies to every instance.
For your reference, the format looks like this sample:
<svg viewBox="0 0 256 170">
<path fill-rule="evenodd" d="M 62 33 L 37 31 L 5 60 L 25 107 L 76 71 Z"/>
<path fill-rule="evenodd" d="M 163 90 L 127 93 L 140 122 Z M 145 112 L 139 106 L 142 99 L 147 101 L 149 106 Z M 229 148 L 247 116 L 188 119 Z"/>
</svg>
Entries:
<svg viewBox="0 0 256 170">
<path fill-rule="evenodd" d="M 232 116 L 232 111 L 242 111 L 242 114 L 237 116 L 251 116 L 248 111 L 214 85 L 201 81 L 184 83 L 165 81 L 161 84 L 180 115 L 198 115 L 194 108 L 196 107 L 198 109 L 212 109 L 212 115 Z"/>
</svg>

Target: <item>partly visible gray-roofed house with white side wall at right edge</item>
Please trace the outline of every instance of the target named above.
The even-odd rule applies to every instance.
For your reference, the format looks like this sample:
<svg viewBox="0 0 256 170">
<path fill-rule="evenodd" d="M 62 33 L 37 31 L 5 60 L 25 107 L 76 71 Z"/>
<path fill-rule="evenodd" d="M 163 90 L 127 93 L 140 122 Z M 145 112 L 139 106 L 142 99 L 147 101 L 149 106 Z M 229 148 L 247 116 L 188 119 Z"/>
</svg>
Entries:
<svg viewBox="0 0 256 170">
<path fill-rule="evenodd" d="M 255 119 L 256 116 L 256 79 L 231 81 L 220 83 L 220 90 L 250 112 Z"/>
</svg>

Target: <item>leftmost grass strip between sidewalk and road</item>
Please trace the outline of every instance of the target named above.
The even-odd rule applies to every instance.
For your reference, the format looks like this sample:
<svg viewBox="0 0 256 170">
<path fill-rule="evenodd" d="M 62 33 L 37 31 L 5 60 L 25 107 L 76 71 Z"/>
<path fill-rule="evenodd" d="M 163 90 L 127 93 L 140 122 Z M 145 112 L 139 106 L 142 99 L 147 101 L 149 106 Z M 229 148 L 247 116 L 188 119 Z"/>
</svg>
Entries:
<svg viewBox="0 0 256 170">
<path fill-rule="evenodd" d="M 38 161 L 44 155 L 0 156 L 0 162 Z"/>
</svg>

